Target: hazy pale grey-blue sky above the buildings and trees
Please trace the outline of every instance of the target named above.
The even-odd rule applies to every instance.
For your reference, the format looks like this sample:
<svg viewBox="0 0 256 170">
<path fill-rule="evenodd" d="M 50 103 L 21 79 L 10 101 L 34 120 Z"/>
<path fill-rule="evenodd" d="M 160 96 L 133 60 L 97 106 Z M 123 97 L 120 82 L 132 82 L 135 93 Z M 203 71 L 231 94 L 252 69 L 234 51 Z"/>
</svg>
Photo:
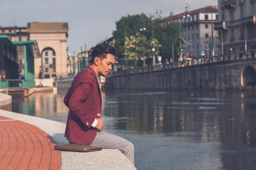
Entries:
<svg viewBox="0 0 256 170">
<path fill-rule="evenodd" d="M 218 0 L 0 0 L 0 26 L 26 26 L 29 22 L 68 22 L 68 53 L 73 54 L 111 37 L 115 22 L 128 14 L 154 14 L 215 6 Z"/>
</svg>

